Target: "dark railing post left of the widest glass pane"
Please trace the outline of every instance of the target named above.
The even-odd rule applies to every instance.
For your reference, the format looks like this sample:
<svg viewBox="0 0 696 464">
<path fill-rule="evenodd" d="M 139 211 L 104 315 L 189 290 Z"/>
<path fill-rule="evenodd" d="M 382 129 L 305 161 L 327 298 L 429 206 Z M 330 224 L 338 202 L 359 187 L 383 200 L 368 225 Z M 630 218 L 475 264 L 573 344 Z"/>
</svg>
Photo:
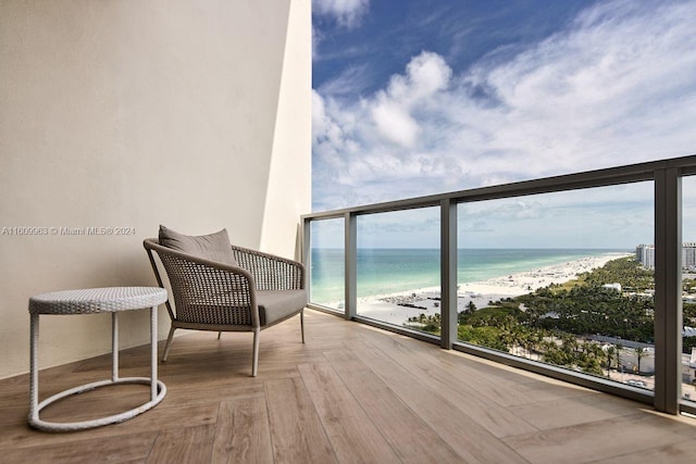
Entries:
<svg viewBox="0 0 696 464">
<path fill-rule="evenodd" d="M 451 350 L 457 341 L 457 204 L 440 201 L 440 343 Z"/>
</svg>

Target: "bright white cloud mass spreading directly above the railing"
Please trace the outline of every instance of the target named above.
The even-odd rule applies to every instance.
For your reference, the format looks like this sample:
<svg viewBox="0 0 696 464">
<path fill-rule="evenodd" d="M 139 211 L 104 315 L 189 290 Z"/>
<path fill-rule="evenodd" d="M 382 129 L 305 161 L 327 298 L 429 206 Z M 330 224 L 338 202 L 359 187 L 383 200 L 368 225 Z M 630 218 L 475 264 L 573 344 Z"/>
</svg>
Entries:
<svg viewBox="0 0 696 464">
<path fill-rule="evenodd" d="M 314 93 L 316 210 L 692 154 L 696 1 L 600 2 L 500 62 L 422 52 L 359 101 Z"/>
</svg>

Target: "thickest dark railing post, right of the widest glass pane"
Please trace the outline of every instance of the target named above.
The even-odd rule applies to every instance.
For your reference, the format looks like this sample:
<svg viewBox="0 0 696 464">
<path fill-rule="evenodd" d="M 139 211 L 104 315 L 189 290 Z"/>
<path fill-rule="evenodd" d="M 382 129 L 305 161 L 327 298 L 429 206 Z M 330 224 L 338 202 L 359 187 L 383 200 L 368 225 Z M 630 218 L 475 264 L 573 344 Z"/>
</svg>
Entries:
<svg viewBox="0 0 696 464">
<path fill-rule="evenodd" d="M 679 170 L 655 173 L 655 407 L 679 413 L 682 353 L 682 227 Z"/>
</svg>

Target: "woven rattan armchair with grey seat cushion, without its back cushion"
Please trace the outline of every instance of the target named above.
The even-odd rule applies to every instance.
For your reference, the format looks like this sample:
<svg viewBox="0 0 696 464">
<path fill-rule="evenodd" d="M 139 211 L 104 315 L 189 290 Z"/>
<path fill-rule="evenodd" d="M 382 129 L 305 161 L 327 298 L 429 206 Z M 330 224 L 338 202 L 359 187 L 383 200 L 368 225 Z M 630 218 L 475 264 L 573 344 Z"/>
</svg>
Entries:
<svg viewBox="0 0 696 464">
<path fill-rule="evenodd" d="M 157 281 L 164 288 L 153 252 L 159 256 L 171 286 L 174 304 L 166 302 L 172 319 L 162 361 L 165 362 L 177 328 L 253 333 L 251 375 L 259 365 L 260 331 L 300 316 L 304 342 L 308 302 L 304 267 L 273 254 L 231 246 L 237 266 L 173 250 L 157 239 L 146 239 L 145 249 Z"/>
</svg>

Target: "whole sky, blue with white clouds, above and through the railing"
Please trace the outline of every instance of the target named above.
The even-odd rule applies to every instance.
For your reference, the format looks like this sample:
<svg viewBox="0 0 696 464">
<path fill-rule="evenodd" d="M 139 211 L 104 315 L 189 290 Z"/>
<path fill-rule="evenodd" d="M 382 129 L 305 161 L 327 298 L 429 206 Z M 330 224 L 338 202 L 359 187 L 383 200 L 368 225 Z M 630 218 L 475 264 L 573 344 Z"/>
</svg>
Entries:
<svg viewBox="0 0 696 464">
<path fill-rule="evenodd" d="M 313 211 L 696 153 L 696 0 L 313 0 L 312 8 Z M 486 211 L 538 223 L 562 204 L 585 212 L 575 224 L 589 230 L 582 242 L 649 242 L 649 187 L 502 201 L 476 212 L 477 225 L 462 211 L 468 222 L 459 226 L 472 243 L 481 230 L 485 244 L 502 224 Z M 685 211 L 691 204 L 685 197 Z M 412 229 L 433 223 L 421 216 Z M 613 235 L 591 237 L 608 217 Z M 626 237 L 630 227 L 635 236 Z M 530 240 L 518 242 L 549 243 Z"/>
</svg>

